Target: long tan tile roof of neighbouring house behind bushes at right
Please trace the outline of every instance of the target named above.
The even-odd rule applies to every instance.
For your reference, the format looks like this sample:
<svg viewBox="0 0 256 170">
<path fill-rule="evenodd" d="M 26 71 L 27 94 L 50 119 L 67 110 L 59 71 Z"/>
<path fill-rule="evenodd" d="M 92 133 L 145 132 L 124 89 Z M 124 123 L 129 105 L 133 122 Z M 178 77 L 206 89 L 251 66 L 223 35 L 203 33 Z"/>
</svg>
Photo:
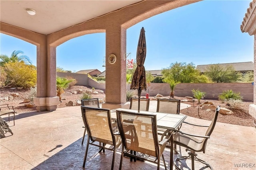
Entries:
<svg viewBox="0 0 256 170">
<path fill-rule="evenodd" d="M 198 66 L 196 66 L 196 69 L 199 70 L 201 73 L 204 73 L 209 70 L 211 65 L 216 65 L 216 64 L 198 65 Z M 254 70 L 254 63 L 252 61 L 241 62 L 241 63 L 222 63 L 219 65 L 223 66 L 223 67 L 233 66 L 235 71 L 239 71 L 241 73 L 246 73 L 247 71 Z"/>
</svg>

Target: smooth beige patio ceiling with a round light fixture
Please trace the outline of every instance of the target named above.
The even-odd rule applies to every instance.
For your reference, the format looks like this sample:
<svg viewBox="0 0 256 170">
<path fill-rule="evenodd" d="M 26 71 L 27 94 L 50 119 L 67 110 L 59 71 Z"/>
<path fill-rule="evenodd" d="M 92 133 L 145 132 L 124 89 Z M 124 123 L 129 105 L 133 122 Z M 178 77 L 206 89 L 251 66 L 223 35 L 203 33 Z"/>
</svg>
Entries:
<svg viewBox="0 0 256 170">
<path fill-rule="evenodd" d="M 1 0 L 0 21 L 48 35 L 141 0 Z M 26 9 L 36 11 L 31 16 Z"/>
</svg>

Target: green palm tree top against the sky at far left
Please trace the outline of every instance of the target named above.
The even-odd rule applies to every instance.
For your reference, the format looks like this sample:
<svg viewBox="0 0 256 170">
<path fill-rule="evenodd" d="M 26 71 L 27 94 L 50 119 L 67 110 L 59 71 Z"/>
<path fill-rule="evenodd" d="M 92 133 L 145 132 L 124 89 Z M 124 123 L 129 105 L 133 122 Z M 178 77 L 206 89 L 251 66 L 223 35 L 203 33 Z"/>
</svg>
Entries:
<svg viewBox="0 0 256 170">
<path fill-rule="evenodd" d="M 21 55 L 20 55 L 21 54 Z M 8 57 L 7 55 L 0 55 L 0 65 L 4 66 L 5 63 L 16 63 L 16 62 L 24 62 L 26 64 L 32 64 L 29 57 L 23 55 L 23 51 L 13 51 L 11 56 Z"/>
</svg>

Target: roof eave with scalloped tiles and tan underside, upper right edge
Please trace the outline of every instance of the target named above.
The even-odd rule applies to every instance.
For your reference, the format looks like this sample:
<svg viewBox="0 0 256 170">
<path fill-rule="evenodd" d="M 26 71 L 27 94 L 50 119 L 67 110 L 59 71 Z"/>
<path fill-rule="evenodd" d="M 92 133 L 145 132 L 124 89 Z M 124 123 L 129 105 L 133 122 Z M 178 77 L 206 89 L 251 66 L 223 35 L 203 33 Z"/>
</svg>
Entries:
<svg viewBox="0 0 256 170">
<path fill-rule="evenodd" d="M 247 9 L 247 13 L 240 26 L 241 31 L 244 33 L 249 33 L 249 35 L 256 34 L 256 0 L 250 2 L 250 7 Z"/>
</svg>

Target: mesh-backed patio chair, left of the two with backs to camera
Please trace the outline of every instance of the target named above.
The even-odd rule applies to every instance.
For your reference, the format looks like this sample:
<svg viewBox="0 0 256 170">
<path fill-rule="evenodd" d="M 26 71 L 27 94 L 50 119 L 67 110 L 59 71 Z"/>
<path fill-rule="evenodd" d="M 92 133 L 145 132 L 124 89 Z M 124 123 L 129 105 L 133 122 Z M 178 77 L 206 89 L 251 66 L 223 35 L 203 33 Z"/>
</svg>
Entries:
<svg viewBox="0 0 256 170">
<path fill-rule="evenodd" d="M 120 135 L 114 134 L 110 109 L 81 106 L 81 111 L 84 125 L 86 126 L 88 132 L 88 140 L 84 155 L 83 167 L 85 166 L 88 147 L 89 145 L 94 145 L 100 147 L 100 151 L 103 150 L 103 152 L 105 152 L 105 149 L 113 151 L 111 166 L 111 169 L 113 170 L 116 149 L 121 145 L 122 140 L 120 138 Z M 97 145 L 95 142 L 99 142 L 99 145 Z M 103 145 L 101 145 L 100 143 L 102 143 Z M 113 147 L 105 147 L 106 144 L 112 145 Z"/>
</svg>

